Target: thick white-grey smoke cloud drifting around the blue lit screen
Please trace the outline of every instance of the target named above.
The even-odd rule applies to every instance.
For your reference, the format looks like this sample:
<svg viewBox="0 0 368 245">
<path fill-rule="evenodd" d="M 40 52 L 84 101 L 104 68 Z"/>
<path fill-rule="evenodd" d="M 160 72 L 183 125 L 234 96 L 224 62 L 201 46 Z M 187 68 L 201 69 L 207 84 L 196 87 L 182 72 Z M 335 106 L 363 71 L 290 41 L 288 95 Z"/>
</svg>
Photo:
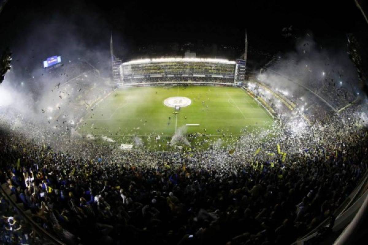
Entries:
<svg viewBox="0 0 368 245">
<path fill-rule="evenodd" d="M 55 115 L 74 117 L 75 90 L 84 92 L 73 78 L 89 71 L 98 77 L 91 80 L 91 86 L 112 86 L 111 28 L 85 3 L 58 7 L 50 3 L 49 12 L 38 12 L 23 10 L 15 2 L 8 3 L 0 16 L 0 49 L 10 47 L 13 52 L 12 68 L 0 85 L 0 112 L 19 113 L 25 119 L 54 126 L 50 119 L 56 119 Z M 17 19 L 6 21 L 14 11 Z M 54 55 L 61 56 L 62 66 L 44 69 L 43 61 Z M 89 78 L 84 79 L 88 83 Z"/>
</svg>

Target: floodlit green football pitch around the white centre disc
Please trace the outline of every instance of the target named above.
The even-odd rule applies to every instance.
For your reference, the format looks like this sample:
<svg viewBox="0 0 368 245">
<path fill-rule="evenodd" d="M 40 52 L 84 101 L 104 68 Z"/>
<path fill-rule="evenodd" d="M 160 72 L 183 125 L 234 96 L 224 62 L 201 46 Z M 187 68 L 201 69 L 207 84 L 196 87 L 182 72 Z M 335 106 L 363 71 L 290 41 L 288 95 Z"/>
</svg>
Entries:
<svg viewBox="0 0 368 245">
<path fill-rule="evenodd" d="M 174 114 L 175 108 L 163 101 L 177 96 L 191 104 Z M 173 135 L 184 132 L 191 145 L 202 141 L 197 148 L 206 148 L 220 138 L 231 138 L 223 140 L 229 143 L 272 123 L 268 112 L 240 88 L 135 87 L 116 90 L 89 109 L 78 132 L 102 142 L 141 142 L 151 149 L 169 148 Z"/>
</svg>

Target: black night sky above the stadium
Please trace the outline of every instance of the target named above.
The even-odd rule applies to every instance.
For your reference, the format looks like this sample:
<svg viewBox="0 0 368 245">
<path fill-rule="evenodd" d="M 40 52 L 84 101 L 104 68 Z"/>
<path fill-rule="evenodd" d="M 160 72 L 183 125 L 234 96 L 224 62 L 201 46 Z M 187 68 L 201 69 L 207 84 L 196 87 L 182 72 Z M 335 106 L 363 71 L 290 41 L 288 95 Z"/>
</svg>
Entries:
<svg viewBox="0 0 368 245">
<path fill-rule="evenodd" d="M 116 3 L 120 2 L 120 3 Z M 42 60 L 86 50 L 108 54 L 110 33 L 121 58 L 139 47 L 170 43 L 244 46 L 275 53 L 295 38 L 313 34 L 329 46 L 346 42 L 346 33 L 363 18 L 353 0 L 344 1 L 46 1 L 9 0 L 0 14 L 0 48 L 14 57 Z M 291 38 L 283 36 L 292 26 Z M 103 56 L 102 55 L 102 56 Z"/>
</svg>

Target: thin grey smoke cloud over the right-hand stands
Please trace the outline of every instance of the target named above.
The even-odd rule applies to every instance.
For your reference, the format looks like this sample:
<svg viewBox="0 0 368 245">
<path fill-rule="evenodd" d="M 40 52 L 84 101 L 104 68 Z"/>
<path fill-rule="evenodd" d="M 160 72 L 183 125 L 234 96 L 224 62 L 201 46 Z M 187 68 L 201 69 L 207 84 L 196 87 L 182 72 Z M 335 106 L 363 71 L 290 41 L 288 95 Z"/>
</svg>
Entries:
<svg viewBox="0 0 368 245">
<path fill-rule="evenodd" d="M 361 93 L 347 52 L 346 46 L 322 46 L 308 33 L 297 40 L 293 51 L 275 57 L 257 78 L 294 100 L 303 96 L 300 85 L 305 86 L 340 108 L 340 101 L 351 102 Z"/>
</svg>

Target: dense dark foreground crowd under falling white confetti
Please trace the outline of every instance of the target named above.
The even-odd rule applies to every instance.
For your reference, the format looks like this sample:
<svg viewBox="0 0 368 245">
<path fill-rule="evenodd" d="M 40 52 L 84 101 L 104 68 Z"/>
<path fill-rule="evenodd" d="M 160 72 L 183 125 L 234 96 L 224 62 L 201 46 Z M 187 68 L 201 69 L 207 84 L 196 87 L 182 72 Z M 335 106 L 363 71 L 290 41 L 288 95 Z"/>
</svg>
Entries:
<svg viewBox="0 0 368 245">
<path fill-rule="evenodd" d="M 123 152 L 1 115 L 0 181 L 66 244 L 290 244 L 365 173 L 363 111 L 244 136 L 233 152 Z M 37 244 L 4 203 L 4 243 Z"/>
</svg>

